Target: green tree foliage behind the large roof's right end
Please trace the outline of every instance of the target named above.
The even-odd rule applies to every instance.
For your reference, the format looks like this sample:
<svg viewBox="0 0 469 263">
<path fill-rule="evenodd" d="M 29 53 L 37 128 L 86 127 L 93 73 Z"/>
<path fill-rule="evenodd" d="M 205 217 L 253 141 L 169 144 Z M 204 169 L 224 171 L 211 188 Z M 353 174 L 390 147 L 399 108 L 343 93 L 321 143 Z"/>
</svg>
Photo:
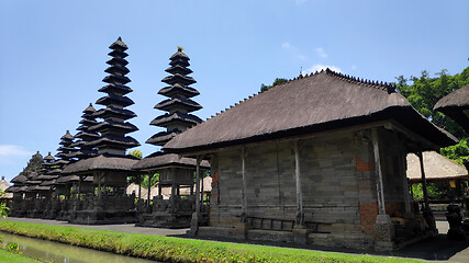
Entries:
<svg viewBox="0 0 469 263">
<path fill-rule="evenodd" d="M 455 76 L 447 72 L 443 69 L 436 73 L 436 78 L 431 78 L 426 70 L 423 70 L 418 78 L 411 76 L 410 79 L 405 79 L 404 76 L 399 76 L 397 89 L 425 117 L 457 138 L 462 138 L 465 136 L 462 128 L 443 113 L 433 111 L 433 107 L 439 99 L 469 83 L 469 67 Z M 407 84 L 409 81 L 412 84 Z"/>
</svg>

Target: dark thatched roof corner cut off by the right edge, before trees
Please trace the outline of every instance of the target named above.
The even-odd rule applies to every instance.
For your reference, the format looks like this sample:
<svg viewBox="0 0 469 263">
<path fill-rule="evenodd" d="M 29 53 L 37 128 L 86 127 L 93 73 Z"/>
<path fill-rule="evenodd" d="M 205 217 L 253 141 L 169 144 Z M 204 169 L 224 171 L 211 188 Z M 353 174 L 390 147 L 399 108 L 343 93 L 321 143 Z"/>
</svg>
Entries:
<svg viewBox="0 0 469 263">
<path fill-rule="evenodd" d="M 469 134 L 469 84 L 442 98 L 434 110 L 448 115 Z"/>
</svg>

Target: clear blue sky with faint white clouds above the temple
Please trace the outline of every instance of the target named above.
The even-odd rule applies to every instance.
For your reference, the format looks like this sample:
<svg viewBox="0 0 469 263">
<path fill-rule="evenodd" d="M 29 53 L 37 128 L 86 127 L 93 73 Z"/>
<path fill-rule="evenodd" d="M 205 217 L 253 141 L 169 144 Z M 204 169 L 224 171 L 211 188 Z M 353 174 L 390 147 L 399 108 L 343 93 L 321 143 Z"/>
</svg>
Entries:
<svg viewBox="0 0 469 263">
<path fill-rule="evenodd" d="M 18 175 L 31 156 L 56 153 L 81 112 L 104 93 L 109 45 L 129 46 L 129 108 L 145 140 L 161 128 L 169 57 L 191 58 L 202 119 L 275 78 L 323 67 L 394 81 L 450 75 L 469 66 L 469 1 L 8 1 L 0 0 L 0 175 Z M 97 108 L 100 105 L 96 105 Z M 133 150 L 133 149 L 131 149 Z"/>
</svg>

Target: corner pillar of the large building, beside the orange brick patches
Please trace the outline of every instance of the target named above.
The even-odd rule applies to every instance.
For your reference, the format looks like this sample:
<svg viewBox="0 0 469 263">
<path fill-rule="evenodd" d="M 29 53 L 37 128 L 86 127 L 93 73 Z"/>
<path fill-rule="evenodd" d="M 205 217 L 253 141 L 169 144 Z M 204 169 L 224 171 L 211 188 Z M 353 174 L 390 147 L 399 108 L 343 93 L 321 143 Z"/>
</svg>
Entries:
<svg viewBox="0 0 469 263">
<path fill-rule="evenodd" d="M 375 222 L 375 250 L 377 251 L 392 251 L 394 250 L 394 226 L 391 222 L 391 217 L 386 214 L 384 203 L 384 188 L 382 183 L 381 158 L 379 148 L 378 130 L 371 130 L 375 153 L 375 167 L 377 173 L 377 197 L 378 197 L 378 213 Z"/>
</svg>

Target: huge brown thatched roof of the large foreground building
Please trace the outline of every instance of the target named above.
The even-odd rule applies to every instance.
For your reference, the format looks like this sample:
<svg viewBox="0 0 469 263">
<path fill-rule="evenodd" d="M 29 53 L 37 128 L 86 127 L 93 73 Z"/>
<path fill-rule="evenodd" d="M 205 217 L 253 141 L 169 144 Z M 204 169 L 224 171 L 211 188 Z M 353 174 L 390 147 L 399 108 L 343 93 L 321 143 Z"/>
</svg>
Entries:
<svg viewBox="0 0 469 263">
<path fill-rule="evenodd" d="M 331 70 L 276 85 L 167 142 L 170 152 L 215 149 L 394 119 L 438 146 L 456 142 L 392 85 Z"/>
</svg>

